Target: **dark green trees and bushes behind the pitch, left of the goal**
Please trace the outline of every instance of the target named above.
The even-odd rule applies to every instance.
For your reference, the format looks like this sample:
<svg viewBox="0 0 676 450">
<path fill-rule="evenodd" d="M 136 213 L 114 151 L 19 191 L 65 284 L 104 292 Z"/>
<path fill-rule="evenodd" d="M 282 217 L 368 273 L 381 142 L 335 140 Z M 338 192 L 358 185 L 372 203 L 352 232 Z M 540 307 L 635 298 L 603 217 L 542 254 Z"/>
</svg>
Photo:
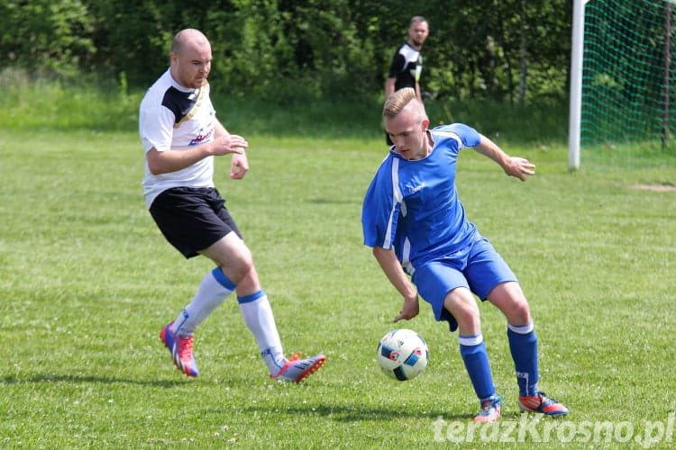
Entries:
<svg viewBox="0 0 676 450">
<path fill-rule="evenodd" d="M 408 20 L 430 22 L 433 98 L 525 103 L 565 96 L 571 0 L 23 0 L 0 3 L 0 67 L 147 87 L 174 33 L 212 41 L 216 88 L 277 102 L 379 95 Z"/>
</svg>

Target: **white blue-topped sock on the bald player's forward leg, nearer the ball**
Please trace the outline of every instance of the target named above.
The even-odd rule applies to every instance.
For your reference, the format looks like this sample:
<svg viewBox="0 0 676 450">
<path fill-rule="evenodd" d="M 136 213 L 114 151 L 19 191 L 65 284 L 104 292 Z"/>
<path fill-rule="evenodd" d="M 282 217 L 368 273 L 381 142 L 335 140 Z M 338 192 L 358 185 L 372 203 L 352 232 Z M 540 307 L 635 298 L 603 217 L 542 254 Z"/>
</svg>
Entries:
<svg viewBox="0 0 676 450">
<path fill-rule="evenodd" d="M 245 297 L 237 297 L 237 302 L 240 304 L 244 323 L 256 338 L 260 356 L 268 366 L 269 374 L 279 374 L 279 369 L 286 363 L 286 358 L 268 296 L 259 291 Z"/>
</svg>

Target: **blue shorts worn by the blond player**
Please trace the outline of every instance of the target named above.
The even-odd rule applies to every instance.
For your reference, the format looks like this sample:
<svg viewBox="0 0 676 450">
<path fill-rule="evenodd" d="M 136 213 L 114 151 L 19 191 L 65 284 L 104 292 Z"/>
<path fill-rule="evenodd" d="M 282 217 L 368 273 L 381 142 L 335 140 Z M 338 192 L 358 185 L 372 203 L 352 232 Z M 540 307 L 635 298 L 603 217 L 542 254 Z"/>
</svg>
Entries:
<svg viewBox="0 0 676 450">
<path fill-rule="evenodd" d="M 518 282 L 489 239 L 483 237 L 451 257 L 416 266 L 411 281 L 423 300 L 432 305 L 434 318 L 446 320 L 451 331 L 458 329 L 458 322 L 443 308 L 443 301 L 453 289 L 465 287 L 483 302 L 498 284 Z"/>
</svg>

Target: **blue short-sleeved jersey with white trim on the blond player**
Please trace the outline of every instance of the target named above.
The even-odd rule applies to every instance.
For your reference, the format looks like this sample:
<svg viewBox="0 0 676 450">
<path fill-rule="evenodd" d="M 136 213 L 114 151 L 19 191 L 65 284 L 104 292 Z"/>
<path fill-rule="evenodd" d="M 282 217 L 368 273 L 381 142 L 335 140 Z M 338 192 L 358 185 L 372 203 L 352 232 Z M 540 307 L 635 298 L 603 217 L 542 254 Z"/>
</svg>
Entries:
<svg viewBox="0 0 676 450">
<path fill-rule="evenodd" d="M 462 123 L 433 130 L 434 148 L 409 161 L 390 149 L 371 180 L 361 211 L 364 244 L 394 248 L 404 270 L 468 247 L 477 227 L 465 217 L 455 187 L 461 148 L 480 142 L 477 130 Z"/>
</svg>

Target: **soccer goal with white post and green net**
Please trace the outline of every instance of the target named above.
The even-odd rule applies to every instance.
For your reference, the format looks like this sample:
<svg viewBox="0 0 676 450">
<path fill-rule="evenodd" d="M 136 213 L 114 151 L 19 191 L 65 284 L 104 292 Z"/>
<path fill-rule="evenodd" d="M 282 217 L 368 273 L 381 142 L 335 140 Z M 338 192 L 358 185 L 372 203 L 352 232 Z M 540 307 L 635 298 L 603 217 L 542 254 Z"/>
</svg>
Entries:
<svg viewBox="0 0 676 450">
<path fill-rule="evenodd" d="M 667 0 L 576 0 L 573 23 L 571 168 L 676 164 L 676 4 Z M 579 23 L 578 23 L 579 24 Z M 674 55 L 676 56 L 676 55 Z M 580 72 L 575 104 L 575 70 Z M 578 123 L 573 123 L 578 121 Z M 576 129 L 577 127 L 577 129 Z M 578 139 L 579 148 L 574 148 Z M 577 161 L 575 158 L 577 157 Z"/>
</svg>

